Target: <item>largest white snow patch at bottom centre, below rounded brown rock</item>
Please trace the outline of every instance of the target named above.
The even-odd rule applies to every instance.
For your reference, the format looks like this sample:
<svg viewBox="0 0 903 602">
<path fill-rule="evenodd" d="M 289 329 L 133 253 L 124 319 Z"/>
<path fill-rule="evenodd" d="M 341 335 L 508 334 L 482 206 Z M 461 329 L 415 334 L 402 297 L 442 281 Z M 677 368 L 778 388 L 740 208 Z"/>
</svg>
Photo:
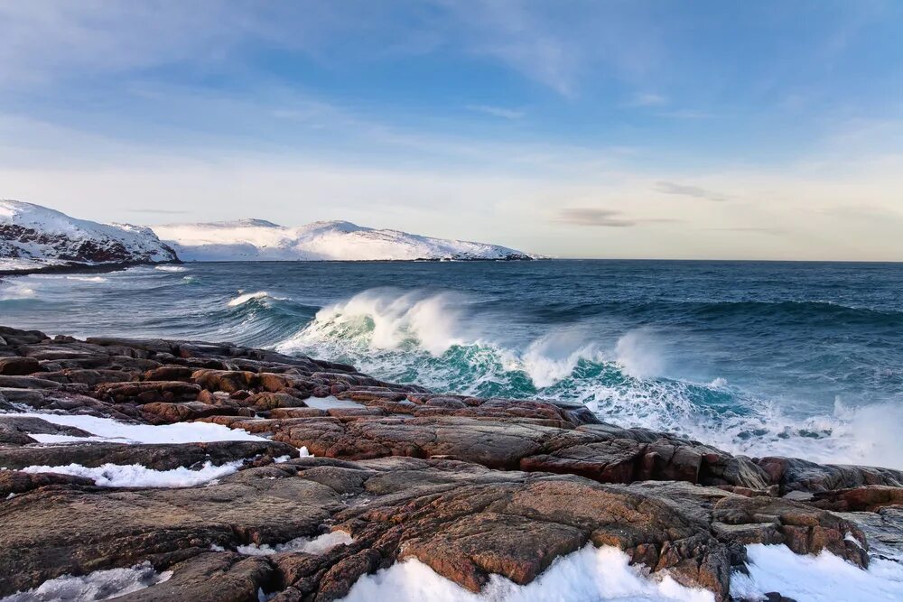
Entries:
<svg viewBox="0 0 903 602">
<path fill-rule="evenodd" d="M 686 588 L 670 577 L 654 579 L 630 566 L 627 554 L 606 546 L 582 550 L 554 560 L 533 582 L 519 586 L 492 575 L 489 584 L 474 594 L 440 576 L 418 560 L 396 562 L 388 569 L 358 579 L 343 602 L 394 600 L 395 602 L 712 602 L 714 595 L 699 588 Z"/>
</svg>

